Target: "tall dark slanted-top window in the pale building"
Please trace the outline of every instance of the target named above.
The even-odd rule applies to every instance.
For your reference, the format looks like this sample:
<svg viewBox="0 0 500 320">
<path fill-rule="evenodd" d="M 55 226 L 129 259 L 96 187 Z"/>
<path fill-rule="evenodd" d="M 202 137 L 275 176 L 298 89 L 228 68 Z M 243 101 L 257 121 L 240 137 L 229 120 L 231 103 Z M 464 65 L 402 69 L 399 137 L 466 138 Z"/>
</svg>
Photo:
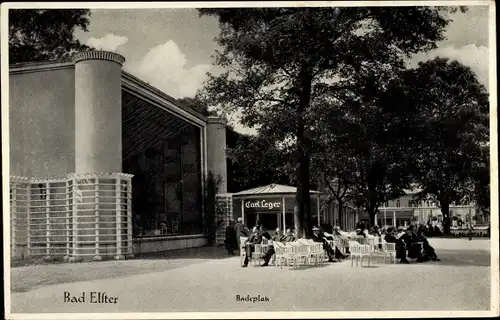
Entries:
<svg viewBox="0 0 500 320">
<path fill-rule="evenodd" d="M 200 129 L 127 93 L 122 99 L 123 171 L 134 175 L 134 234 L 201 233 Z"/>
</svg>

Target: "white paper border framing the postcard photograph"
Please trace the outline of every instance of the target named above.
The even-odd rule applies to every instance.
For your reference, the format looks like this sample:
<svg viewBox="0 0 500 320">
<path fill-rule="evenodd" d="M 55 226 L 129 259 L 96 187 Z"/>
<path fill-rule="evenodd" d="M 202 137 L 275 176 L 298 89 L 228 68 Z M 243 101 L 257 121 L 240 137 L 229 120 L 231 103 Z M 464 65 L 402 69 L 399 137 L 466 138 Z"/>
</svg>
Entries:
<svg viewBox="0 0 500 320">
<path fill-rule="evenodd" d="M 9 212 L 9 122 L 8 122 L 8 105 L 9 105 L 9 72 L 8 72 L 8 8 L 89 8 L 89 9 L 119 9 L 119 8 L 200 8 L 200 7 L 283 7 L 283 6 L 309 6 L 309 7 L 360 7 L 360 6 L 414 6 L 414 5 L 489 5 L 489 60 L 490 60 L 490 154 L 491 154 L 491 281 L 492 281 L 492 296 L 491 296 L 491 310 L 490 311 L 411 311 L 411 312 L 238 312 L 238 313 L 81 313 L 81 314 L 12 314 L 10 313 L 10 237 L 7 236 L 8 232 L 4 233 L 4 280 L 5 280 L 5 314 L 10 319 L 206 319 L 206 318 L 328 318 L 328 317 L 350 317 L 350 318 L 428 318 L 428 317 L 465 317 L 465 316 L 480 316 L 490 317 L 498 315 L 499 313 L 499 254 L 498 242 L 495 239 L 499 238 L 498 230 L 498 137 L 497 137 L 497 83 L 496 83 L 496 28 L 495 28 L 495 2 L 486 0 L 477 1 L 323 1 L 323 2 L 171 2 L 171 3 L 158 3 L 158 2 L 92 2 L 92 3 L 70 3 L 70 2 L 32 2 L 32 3 L 2 3 L 1 5 L 1 63 L 2 63 L 2 157 L 3 157 L 3 199 L 4 207 Z M 203 128 L 206 138 L 206 127 Z M 205 145 L 206 152 L 206 139 L 203 144 Z M 206 163 L 205 163 L 206 167 Z M 9 215 L 3 215 L 4 230 L 9 230 L 10 221 Z"/>
</svg>

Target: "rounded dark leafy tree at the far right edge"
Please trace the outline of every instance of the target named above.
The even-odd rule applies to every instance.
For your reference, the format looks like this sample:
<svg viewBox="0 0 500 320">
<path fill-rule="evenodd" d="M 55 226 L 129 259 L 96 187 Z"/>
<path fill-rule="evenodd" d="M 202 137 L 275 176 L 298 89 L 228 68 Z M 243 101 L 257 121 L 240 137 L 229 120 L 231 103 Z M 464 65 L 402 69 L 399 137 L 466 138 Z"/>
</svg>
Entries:
<svg viewBox="0 0 500 320">
<path fill-rule="evenodd" d="M 469 67 L 440 57 L 409 70 L 402 90 L 420 122 L 414 136 L 415 179 L 423 189 L 419 196 L 438 201 L 446 234 L 450 205 L 469 202 L 475 181 L 485 187 L 488 92 Z M 482 179 L 476 179 L 481 167 Z"/>
</svg>

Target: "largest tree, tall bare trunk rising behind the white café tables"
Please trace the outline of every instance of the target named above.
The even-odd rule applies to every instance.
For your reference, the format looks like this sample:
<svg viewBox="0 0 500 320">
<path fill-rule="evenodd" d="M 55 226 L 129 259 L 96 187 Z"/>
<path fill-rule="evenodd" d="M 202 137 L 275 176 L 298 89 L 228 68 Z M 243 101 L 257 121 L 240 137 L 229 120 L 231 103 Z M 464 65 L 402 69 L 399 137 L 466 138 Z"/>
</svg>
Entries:
<svg viewBox="0 0 500 320">
<path fill-rule="evenodd" d="M 324 104 L 360 72 L 402 68 L 403 56 L 435 48 L 449 20 L 438 7 L 199 9 L 216 16 L 222 47 L 200 96 L 294 150 L 299 236 L 309 235 L 312 131 Z M 453 9 L 455 10 L 455 9 Z M 338 81 L 337 81 L 338 79 Z"/>
</svg>

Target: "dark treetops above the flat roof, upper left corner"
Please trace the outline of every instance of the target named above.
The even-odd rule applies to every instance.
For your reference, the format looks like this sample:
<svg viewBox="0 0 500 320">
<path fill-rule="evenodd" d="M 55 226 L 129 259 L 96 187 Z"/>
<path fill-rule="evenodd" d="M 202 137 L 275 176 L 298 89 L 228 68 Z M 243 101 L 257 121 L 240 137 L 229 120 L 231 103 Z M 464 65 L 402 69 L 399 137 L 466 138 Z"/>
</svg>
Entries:
<svg viewBox="0 0 500 320">
<path fill-rule="evenodd" d="M 10 9 L 9 62 L 59 60 L 88 50 L 74 31 L 86 32 L 89 23 L 88 9 Z"/>
</svg>

